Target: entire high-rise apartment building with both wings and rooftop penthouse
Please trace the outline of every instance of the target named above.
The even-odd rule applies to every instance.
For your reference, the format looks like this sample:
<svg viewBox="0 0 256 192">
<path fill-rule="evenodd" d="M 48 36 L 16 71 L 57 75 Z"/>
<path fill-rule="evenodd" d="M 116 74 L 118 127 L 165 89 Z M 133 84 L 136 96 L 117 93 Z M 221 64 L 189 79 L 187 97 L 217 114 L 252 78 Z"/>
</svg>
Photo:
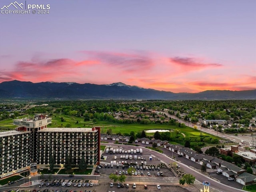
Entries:
<svg viewBox="0 0 256 192">
<path fill-rule="evenodd" d="M 38 164 L 64 167 L 68 156 L 79 165 L 84 157 L 88 167 L 100 162 L 100 127 L 47 128 L 52 118 L 38 114 L 34 118 L 13 120 L 14 131 L 0 132 L 0 178 L 16 174 Z"/>
</svg>

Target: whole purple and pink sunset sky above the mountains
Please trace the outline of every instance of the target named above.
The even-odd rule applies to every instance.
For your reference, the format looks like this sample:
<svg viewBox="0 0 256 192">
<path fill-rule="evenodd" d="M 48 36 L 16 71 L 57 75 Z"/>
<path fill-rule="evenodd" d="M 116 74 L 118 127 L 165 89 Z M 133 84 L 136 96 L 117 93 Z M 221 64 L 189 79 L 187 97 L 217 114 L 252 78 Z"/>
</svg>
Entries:
<svg viewBox="0 0 256 192">
<path fill-rule="evenodd" d="M 14 2 L 0 1 L 0 82 L 256 89 L 256 0 Z"/>
</svg>

